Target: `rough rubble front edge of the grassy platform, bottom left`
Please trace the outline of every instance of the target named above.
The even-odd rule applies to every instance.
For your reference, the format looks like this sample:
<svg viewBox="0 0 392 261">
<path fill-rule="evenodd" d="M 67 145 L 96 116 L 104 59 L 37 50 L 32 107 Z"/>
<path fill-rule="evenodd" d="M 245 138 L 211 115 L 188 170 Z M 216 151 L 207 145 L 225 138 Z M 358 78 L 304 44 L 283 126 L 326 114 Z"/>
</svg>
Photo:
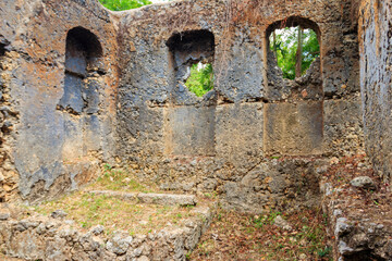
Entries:
<svg viewBox="0 0 392 261">
<path fill-rule="evenodd" d="M 10 219 L 0 221 L 0 246 L 7 256 L 23 260 L 185 260 L 208 228 L 213 208 L 195 207 L 198 216 L 179 227 L 133 236 L 118 231 L 106 237 L 102 227 L 83 232 L 40 215 Z"/>
</svg>

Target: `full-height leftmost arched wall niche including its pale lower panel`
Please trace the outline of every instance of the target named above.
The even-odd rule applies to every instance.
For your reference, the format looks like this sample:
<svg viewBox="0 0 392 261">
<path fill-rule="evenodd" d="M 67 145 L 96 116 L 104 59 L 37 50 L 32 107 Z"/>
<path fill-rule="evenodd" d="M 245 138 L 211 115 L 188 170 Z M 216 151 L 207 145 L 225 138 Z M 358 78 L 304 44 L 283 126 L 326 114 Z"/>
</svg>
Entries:
<svg viewBox="0 0 392 261">
<path fill-rule="evenodd" d="M 64 92 L 58 103 L 64 119 L 63 156 L 77 159 L 100 148 L 99 89 L 105 73 L 102 48 L 83 27 L 69 30 L 65 45 Z M 77 115 L 77 116 L 75 116 Z"/>
</svg>

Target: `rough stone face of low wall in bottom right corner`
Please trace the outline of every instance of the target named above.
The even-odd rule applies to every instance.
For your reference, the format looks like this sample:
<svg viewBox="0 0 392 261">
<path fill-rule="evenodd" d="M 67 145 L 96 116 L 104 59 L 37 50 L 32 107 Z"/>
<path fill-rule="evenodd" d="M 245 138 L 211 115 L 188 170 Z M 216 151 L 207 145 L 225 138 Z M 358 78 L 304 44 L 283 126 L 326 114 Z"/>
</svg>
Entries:
<svg viewBox="0 0 392 261">
<path fill-rule="evenodd" d="M 362 197 L 342 192 L 341 188 L 332 187 L 331 184 L 322 184 L 321 187 L 334 260 L 391 260 L 390 202 L 385 208 L 377 209 L 378 206 L 368 206 Z M 353 202 L 353 198 L 359 198 L 360 203 L 347 204 L 346 202 Z"/>
</svg>

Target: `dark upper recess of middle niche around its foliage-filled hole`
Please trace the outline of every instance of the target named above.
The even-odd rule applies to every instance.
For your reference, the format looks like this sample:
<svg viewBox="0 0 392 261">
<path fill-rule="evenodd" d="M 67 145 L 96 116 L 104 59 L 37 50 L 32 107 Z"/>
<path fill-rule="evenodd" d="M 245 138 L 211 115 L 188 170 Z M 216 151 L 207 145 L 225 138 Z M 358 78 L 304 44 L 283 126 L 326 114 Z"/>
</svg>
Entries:
<svg viewBox="0 0 392 261">
<path fill-rule="evenodd" d="M 174 34 L 167 41 L 173 64 L 173 98 L 176 104 L 195 104 L 200 98 L 185 86 L 194 64 L 213 65 L 215 36 L 209 30 L 188 30 Z M 204 100 L 215 97 L 215 91 L 204 96 Z"/>
</svg>

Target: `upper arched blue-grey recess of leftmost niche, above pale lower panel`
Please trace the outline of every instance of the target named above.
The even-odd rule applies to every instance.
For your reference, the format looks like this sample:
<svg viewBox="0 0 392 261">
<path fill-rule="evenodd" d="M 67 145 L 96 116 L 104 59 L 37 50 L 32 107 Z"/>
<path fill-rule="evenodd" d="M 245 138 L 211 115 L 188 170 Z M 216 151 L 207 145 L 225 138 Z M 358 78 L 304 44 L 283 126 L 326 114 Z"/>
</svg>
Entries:
<svg viewBox="0 0 392 261">
<path fill-rule="evenodd" d="M 59 110 L 72 114 L 98 112 L 99 92 L 97 77 L 103 74 L 102 47 L 88 29 L 75 27 L 69 30 L 65 47 L 64 95 Z"/>
</svg>

